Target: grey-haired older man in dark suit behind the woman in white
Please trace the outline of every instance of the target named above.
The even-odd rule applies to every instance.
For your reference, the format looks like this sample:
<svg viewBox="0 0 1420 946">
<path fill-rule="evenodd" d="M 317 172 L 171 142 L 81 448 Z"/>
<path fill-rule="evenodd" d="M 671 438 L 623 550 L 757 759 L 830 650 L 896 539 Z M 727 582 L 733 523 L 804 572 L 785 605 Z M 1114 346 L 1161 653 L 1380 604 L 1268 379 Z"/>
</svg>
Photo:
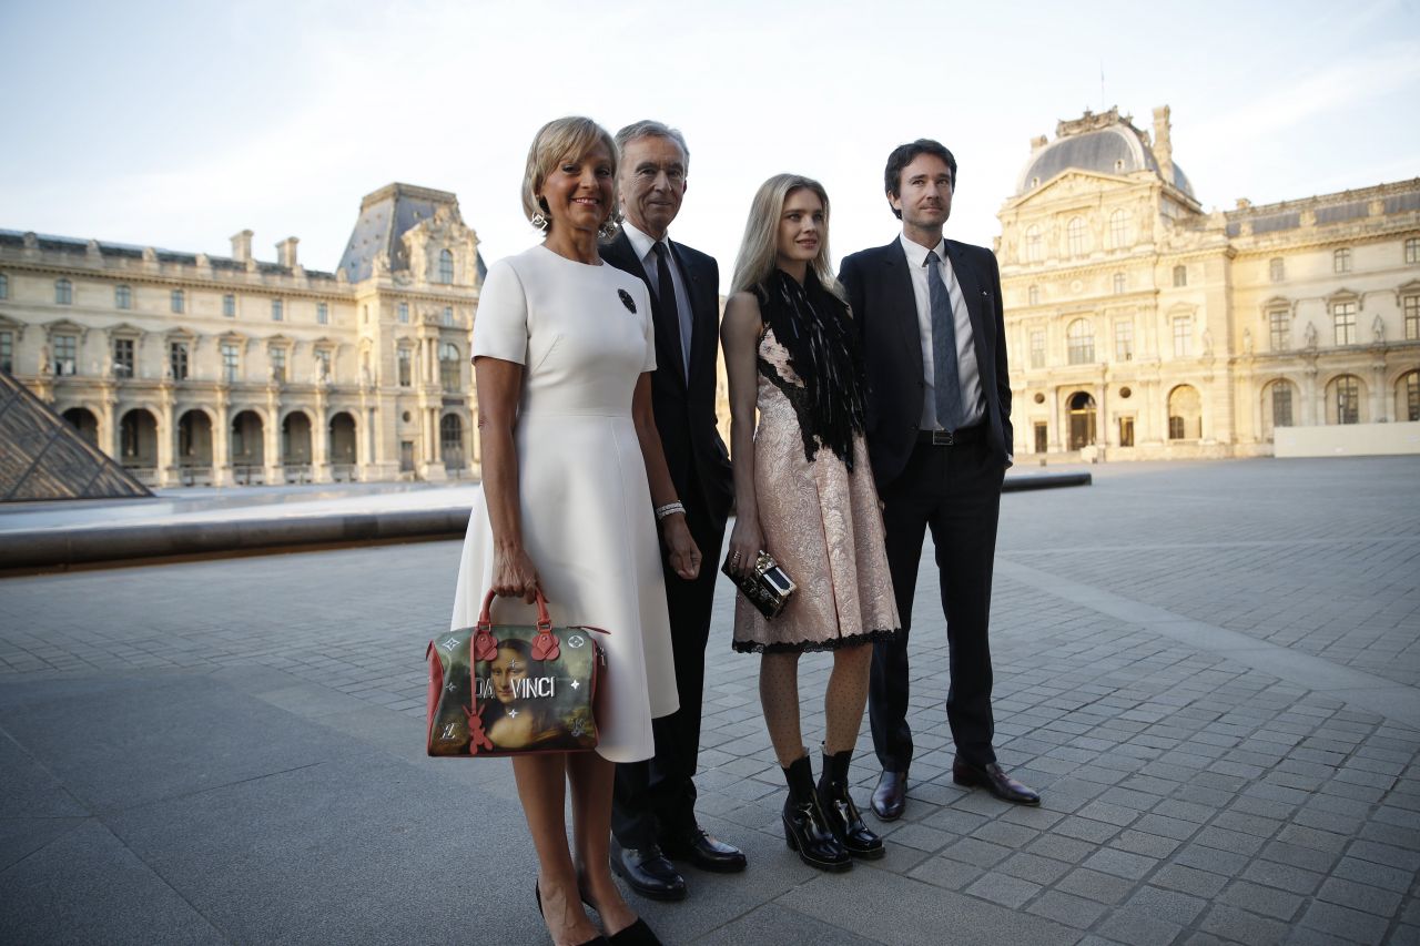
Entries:
<svg viewBox="0 0 1420 946">
<path fill-rule="evenodd" d="M 616 767 L 612 869 L 636 892 L 679 901 L 686 881 L 670 858 L 706 871 L 743 871 L 744 854 L 696 821 L 696 760 L 716 557 L 730 514 L 733 480 L 716 429 L 720 270 L 714 259 L 666 239 L 686 192 L 690 152 L 679 131 L 642 121 L 616 134 L 618 189 L 626 216 L 602 260 L 646 281 L 656 327 L 652 406 L 686 524 L 707 567 L 684 581 L 666 565 L 666 604 L 680 710 L 652 723 L 656 756 Z"/>
</svg>

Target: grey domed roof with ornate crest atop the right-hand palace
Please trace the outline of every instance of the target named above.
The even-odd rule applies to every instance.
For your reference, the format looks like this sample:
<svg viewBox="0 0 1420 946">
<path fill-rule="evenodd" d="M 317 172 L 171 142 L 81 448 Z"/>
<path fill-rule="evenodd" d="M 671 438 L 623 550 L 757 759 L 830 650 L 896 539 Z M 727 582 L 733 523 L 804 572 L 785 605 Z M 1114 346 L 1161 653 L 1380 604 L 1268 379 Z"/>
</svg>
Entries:
<svg viewBox="0 0 1420 946">
<path fill-rule="evenodd" d="M 1021 170 L 1017 195 L 1034 190 L 1062 170 L 1078 168 L 1105 175 L 1152 170 L 1197 200 L 1187 175 L 1172 159 L 1169 173 L 1160 173 L 1147 132 L 1135 128 L 1127 115 L 1120 116 L 1118 108 L 1102 115 L 1085 112 L 1082 118 L 1059 122 L 1055 141 L 1045 143 L 1044 138 L 1038 138 L 1034 143 L 1038 146 Z"/>
</svg>

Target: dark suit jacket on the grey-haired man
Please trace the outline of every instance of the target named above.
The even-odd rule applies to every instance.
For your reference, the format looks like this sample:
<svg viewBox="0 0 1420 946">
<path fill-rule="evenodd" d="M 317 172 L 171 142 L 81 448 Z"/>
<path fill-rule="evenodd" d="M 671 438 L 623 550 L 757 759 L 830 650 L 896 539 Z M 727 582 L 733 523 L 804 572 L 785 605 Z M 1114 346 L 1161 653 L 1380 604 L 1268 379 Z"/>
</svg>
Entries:
<svg viewBox="0 0 1420 946">
<path fill-rule="evenodd" d="M 701 509 L 723 523 L 730 514 L 734 480 L 730 453 L 716 428 L 716 354 L 720 345 L 720 267 L 714 257 L 689 246 L 669 241 L 670 254 L 680 267 L 690 297 L 694 338 L 690 344 L 690 376 L 682 371 L 683 357 L 676 349 L 680 325 L 672 325 L 656 300 L 653 274 L 646 273 L 625 232 L 604 243 L 602 260 L 618 270 L 643 280 L 650 290 L 652 315 L 656 322 L 656 371 L 650 376 L 652 405 L 660 446 L 666 452 L 676 494 L 686 503 L 700 501 Z M 694 476 L 692 477 L 692 472 Z M 699 496 L 690 494 L 692 482 Z M 719 553 L 707 551 L 707 557 Z"/>
</svg>

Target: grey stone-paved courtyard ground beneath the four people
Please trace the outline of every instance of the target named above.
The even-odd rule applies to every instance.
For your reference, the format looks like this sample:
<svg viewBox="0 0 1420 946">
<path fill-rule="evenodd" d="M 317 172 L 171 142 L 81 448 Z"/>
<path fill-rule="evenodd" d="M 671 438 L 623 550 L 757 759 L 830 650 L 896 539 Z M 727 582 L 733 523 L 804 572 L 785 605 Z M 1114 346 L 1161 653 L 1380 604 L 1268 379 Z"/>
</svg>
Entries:
<svg viewBox="0 0 1420 946">
<path fill-rule="evenodd" d="M 848 875 L 784 845 L 721 582 L 700 811 L 750 869 L 638 902 L 663 939 L 1420 942 L 1420 459 L 1092 472 L 1003 503 L 997 744 L 1042 807 L 951 784 L 924 567 L 907 812 Z M 0 580 L 0 940 L 545 942 L 508 764 L 422 754 L 456 568 L 430 543 Z M 866 803 L 866 724 L 855 777 Z"/>
</svg>

